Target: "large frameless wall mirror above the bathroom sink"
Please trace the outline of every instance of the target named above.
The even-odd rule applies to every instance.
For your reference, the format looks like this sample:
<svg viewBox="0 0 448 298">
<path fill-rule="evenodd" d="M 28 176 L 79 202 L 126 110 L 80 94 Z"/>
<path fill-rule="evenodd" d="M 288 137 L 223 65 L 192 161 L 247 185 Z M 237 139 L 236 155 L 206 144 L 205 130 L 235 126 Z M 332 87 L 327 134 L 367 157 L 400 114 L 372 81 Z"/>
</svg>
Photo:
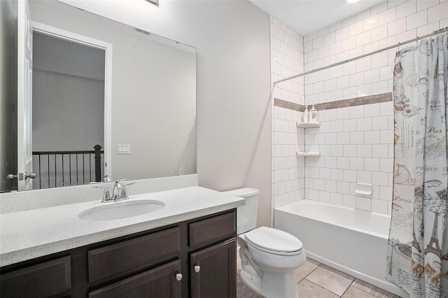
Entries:
<svg viewBox="0 0 448 298">
<path fill-rule="evenodd" d="M 87 184 L 98 174 L 196 173 L 195 48 L 59 1 L 28 3 L 32 108 L 25 113 L 36 173 L 28 189 Z M 100 163 L 87 153 L 97 145 Z"/>
</svg>

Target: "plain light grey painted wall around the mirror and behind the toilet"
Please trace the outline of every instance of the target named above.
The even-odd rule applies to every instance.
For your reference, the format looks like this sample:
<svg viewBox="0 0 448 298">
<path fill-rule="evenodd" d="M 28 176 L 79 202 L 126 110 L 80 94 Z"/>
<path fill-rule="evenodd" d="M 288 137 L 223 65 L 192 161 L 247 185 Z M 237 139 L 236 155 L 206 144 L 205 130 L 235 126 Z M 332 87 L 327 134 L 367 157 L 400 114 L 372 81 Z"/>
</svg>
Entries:
<svg viewBox="0 0 448 298">
<path fill-rule="evenodd" d="M 260 190 L 270 224 L 269 15 L 249 1 L 64 1 L 197 48 L 197 173 Z"/>
</svg>

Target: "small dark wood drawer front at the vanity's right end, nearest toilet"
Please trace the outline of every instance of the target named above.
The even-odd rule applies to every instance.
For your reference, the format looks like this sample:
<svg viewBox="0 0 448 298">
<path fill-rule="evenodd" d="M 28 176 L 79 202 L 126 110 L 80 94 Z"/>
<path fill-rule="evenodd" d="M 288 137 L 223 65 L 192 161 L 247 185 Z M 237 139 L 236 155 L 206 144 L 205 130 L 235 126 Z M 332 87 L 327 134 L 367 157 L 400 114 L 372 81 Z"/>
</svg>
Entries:
<svg viewBox="0 0 448 298">
<path fill-rule="evenodd" d="M 228 236 L 236 234 L 235 211 L 225 213 L 223 215 L 201 220 L 191 223 L 190 229 L 190 246 L 200 246 L 212 241 L 218 241 Z"/>
</svg>

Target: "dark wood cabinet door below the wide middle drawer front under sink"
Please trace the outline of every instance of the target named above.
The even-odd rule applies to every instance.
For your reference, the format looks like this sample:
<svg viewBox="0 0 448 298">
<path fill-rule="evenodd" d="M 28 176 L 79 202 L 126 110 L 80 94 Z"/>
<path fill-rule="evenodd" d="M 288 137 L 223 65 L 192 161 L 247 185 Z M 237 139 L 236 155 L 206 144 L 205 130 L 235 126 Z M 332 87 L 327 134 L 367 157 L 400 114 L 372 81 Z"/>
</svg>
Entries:
<svg viewBox="0 0 448 298">
<path fill-rule="evenodd" d="M 181 297 L 181 261 L 162 265 L 89 293 L 89 298 Z"/>
</svg>

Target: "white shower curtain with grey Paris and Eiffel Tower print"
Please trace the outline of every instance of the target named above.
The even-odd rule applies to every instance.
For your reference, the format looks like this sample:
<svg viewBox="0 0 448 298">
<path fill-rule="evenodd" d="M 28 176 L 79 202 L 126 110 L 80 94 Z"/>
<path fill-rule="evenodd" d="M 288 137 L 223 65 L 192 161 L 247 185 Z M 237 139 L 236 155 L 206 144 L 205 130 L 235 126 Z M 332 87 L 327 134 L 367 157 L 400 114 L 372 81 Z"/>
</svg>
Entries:
<svg viewBox="0 0 448 298">
<path fill-rule="evenodd" d="M 399 50 L 386 278 L 411 297 L 448 297 L 448 34 Z"/>
</svg>

